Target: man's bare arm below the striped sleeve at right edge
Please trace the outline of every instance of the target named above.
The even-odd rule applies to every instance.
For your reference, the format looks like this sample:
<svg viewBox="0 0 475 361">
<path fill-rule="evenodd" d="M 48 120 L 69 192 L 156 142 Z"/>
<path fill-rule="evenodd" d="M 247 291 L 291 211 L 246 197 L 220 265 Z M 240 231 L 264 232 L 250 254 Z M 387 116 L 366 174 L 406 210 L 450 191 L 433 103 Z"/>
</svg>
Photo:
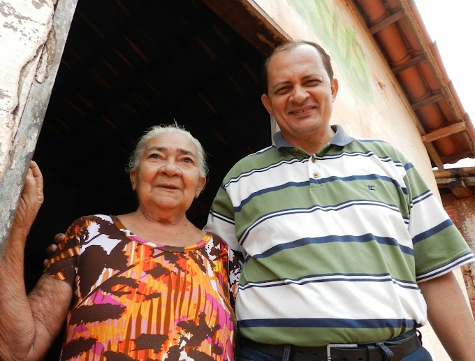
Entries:
<svg viewBox="0 0 475 361">
<path fill-rule="evenodd" d="M 419 283 L 428 319 L 452 360 L 475 360 L 475 322 L 453 272 Z"/>
</svg>

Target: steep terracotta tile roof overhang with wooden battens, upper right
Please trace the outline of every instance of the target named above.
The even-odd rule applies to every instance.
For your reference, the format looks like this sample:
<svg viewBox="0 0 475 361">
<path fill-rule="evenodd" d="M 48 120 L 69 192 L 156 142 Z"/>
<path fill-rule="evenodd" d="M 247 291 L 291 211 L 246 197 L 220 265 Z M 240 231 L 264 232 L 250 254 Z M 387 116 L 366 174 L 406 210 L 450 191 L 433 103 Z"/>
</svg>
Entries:
<svg viewBox="0 0 475 361">
<path fill-rule="evenodd" d="M 355 0 L 407 95 L 434 166 L 475 157 L 475 131 L 446 75 L 414 0 Z M 403 44 L 398 48 L 397 45 Z M 404 48 L 405 46 L 405 48 Z"/>
</svg>

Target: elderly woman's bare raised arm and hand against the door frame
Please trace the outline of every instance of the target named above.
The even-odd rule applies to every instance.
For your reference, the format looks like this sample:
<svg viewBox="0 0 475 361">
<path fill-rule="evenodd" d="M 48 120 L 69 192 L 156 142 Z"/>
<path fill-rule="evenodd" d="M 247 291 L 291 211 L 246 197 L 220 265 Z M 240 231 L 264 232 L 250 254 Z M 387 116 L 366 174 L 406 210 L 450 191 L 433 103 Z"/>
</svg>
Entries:
<svg viewBox="0 0 475 361">
<path fill-rule="evenodd" d="M 0 360 L 41 360 L 61 329 L 73 291 L 43 274 L 27 296 L 24 245 L 43 203 L 43 178 L 31 162 L 5 252 L 0 260 Z"/>
</svg>

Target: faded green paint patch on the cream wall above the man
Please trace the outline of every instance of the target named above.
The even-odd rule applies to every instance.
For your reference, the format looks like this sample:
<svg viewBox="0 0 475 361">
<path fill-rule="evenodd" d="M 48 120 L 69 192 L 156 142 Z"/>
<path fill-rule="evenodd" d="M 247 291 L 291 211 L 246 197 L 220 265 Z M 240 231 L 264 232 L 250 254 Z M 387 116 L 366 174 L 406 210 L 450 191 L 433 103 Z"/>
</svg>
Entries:
<svg viewBox="0 0 475 361">
<path fill-rule="evenodd" d="M 320 45 L 332 55 L 346 82 L 361 100 L 373 101 L 370 71 L 356 31 L 329 0 L 286 0 L 308 29 L 319 38 Z"/>
</svg>

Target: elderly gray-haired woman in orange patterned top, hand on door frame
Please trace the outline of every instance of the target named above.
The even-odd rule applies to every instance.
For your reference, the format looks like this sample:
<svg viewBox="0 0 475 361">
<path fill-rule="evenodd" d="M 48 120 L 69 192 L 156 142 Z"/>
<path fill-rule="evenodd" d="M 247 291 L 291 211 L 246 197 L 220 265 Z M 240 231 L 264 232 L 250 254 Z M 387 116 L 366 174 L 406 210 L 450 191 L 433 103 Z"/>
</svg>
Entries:
<svg viewBox="0 0 475 361">
<path fill-rule="evenodd" d="M 27 296 L 24 243 L 43 201 L 32 162 L 0 261 L 0 360 L 41 360 L 65 319 L 61 360 L 233 360 L 238 266 L 185 214 L 206 170 L 189 132 L 151 128 L 129 162 L 136 211 L 76 220 Z"/>
</svg>

